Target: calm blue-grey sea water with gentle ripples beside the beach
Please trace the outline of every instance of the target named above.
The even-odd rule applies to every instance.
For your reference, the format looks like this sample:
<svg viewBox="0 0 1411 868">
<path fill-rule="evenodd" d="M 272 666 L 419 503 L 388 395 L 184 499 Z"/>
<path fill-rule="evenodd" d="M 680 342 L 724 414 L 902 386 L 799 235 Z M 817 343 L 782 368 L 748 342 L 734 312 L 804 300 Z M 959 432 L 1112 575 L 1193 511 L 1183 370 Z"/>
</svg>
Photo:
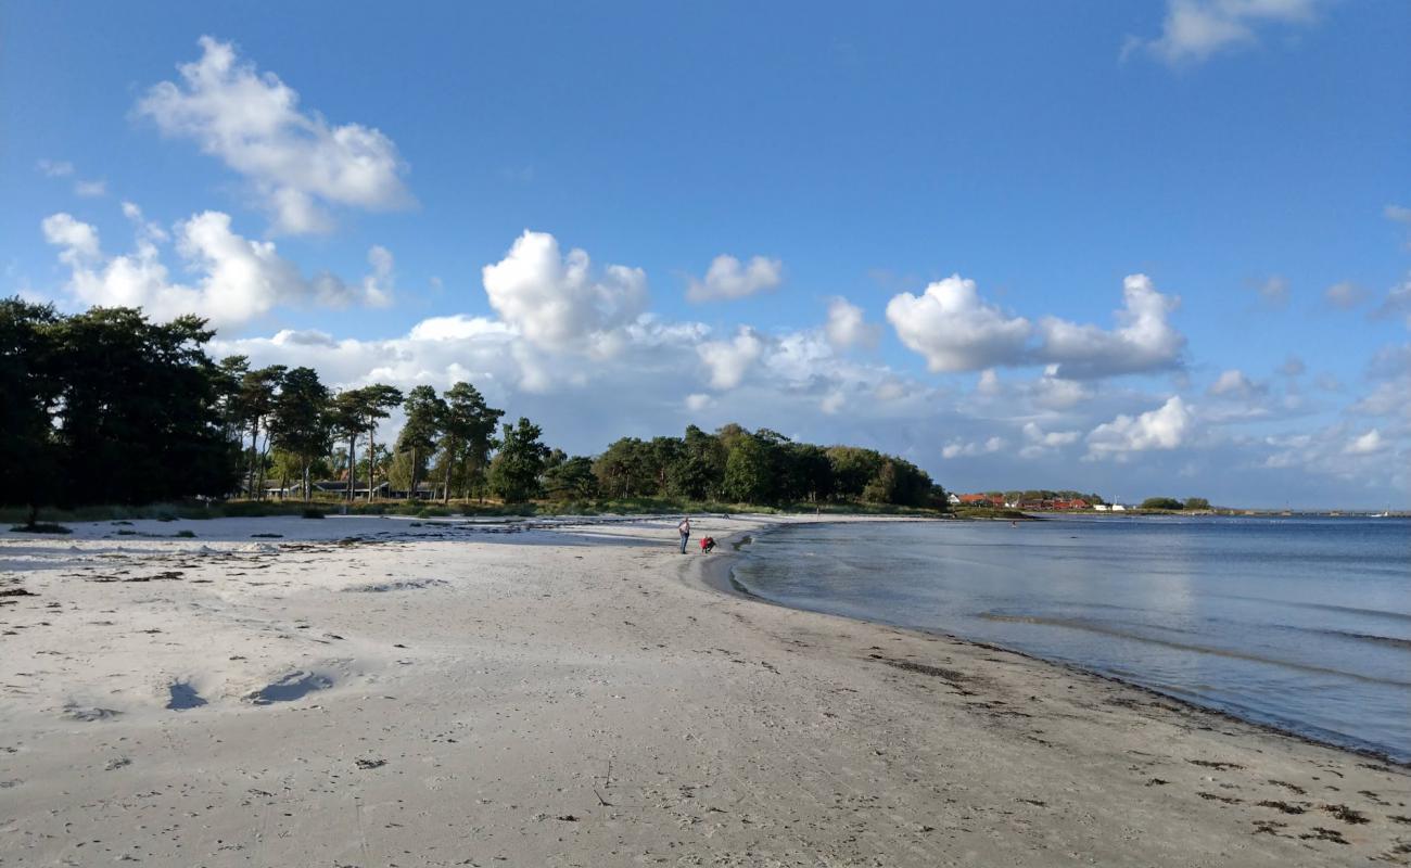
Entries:
<svg viewBox="0 0 1411 868">
<path fill-rule="evenodd" d="M 1411 761 L 1411 521 L 796 525 L 761 597 L 981 639 Z"/>
</svg>

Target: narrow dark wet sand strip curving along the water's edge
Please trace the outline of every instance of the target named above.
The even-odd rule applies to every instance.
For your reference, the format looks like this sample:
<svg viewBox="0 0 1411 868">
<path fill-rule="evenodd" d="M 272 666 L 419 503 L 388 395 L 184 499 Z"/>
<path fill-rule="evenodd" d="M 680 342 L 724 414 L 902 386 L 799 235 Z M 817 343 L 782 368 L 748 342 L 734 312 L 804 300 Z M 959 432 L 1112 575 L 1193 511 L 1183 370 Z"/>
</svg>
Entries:
<svg viewBox="0 0 1411 868">
<path fill-rule="evenodd" d="M 906 521 L 906 519 L 899 519 L 899 521 Z M 983 519 L 981 519 L 981 521 L 983 521 Z M 823 519 L 823 521 L 818 521 L 818 522 L 809 522 L 809 524 L 845 524 L 845 522 L 830 522 L 828 519 Z M 769 534 L 769 532 L 777 531 L 777 529 L 785 528 L 785 526 L 787 526 L 787 525 L 786 524 L 770 524 L 770 525 L 766 525 L 766 528 L 762 528 L 761 531 L 756 531 L 753 534 L 741 532 L 741 534 L 737 534 L 735 536 L 744 536 L 748 541 L 751 536 L 759 536 L 762 534 Z M 734 543 L 735 539 L 732 538 L 731 541 L 722 542 L 721 548 L 724 548 L 727 542 Z M 882 627 L 882 628 L 888 628 L 888 629 L 902 629 L 902 631 L 913 632 L 913 634 L 916 634 L 919 637 L 943 637 L 943 638 L 950 639 L 952 642 L 962 642 L 965 645 L 972 645 L 975 648 L 981 648 L 981 649 L 985 649 L 985 651 L 995 651 L 995 652 L 1012 653 L 1012 655 L 1024 658 L 1027 661 L 1033 661 L 1034 663 L 1038 663 L 1038 665 L 1043 665 L 1043 666 L 1053 666 L 1053 668 L 1060 669 L 1062 672 L 1067 672 L 1070 675 L 1078 675 L 1078 676 L 1085 676 L 1085 677 L 1096 677 L 1096 679 L 1101 679 L 1103 682 L 1110 682 L 1110 683 L 1115 683 L 1115 685 L 1122 685 L 1122 686 L 1129 687 L 1132 690 L 1139 690 L 1141 693 L 1147 693 L 1147 694 L 1150 694 L 1153 697 L 1157 697 L 1157 699 L 1161 699 L 1161 700 L 1178 703 L 1180 706 L 1188 709 L 1192 713 L 1209 714 L 1209 716 L 1212 716 L 1215 718 L 1219 718 L 1219 720 L 1223 720 L 1223 721 L 1228 721 L 1228 723 L 1237 723 L 1237 724 L 1245 724 L 1245 725 L 1250 725 L 1250 727 L 1257 727 L 1257 728 L 1260 728 L 1260 730 L 1263 730 L 1266 733 L 1270 733 L 1273 735 L 1281 735 L 1281 737 L 1285 737 L 1285 738 L 1292 738 L 1294 741 L 1300 741 L 1300 742 L 1308 744 L 1308 745 L 1315 745 L 1315 747 L 1321 747 L 1321 748 L 1329 748 L 1329 749 L 1335 749 L 1335 751 L 1346 751 L 1349 754 L 1353 754 L 1353 755 L 1357 755 L 1357 757 L 1364 757 L 1367 759 L 1374 759 L 1374 761 L 1377 761 L 1377 762 L 1380 762 L 1383 765 L 1398 768 L 1398 769 L 1403 769 L 1403 771 L 1411 773 L 1411 759 L 1397 759 L 1395 757 L 1391 757 L 1390 754 L 1387 754 L 1384 751 L 1380 751 L 1380 749 L 1377 749 L 1374 747 L 1370 747 L 1370 745 L 1369 747 L 1359 747 L 1356 744 L 1343 744 L 1343 742 L 1335 741 L 1332 738 L 1318 738 L 1316 735 L 1312 735 L 1312 734 L 1308 734 L 1308 733 L 1301 733 L 1301 731 L 1298 731 L 1298 730 L 1295 730 L 1292 727 L 1283 727 L 1283 725 L 1278 725 L 1277 723 L 1259 720 L 1256 717 L 1243 717 L 1243 716 L 1236 714 L 1233 711 L 1228 711 L 1228 710 L 1216 707 L 1216 706 L 1206 706 L 1206 704 L 1202 704 L 1202 703 L 1185 699 L 1182 696 L 1175 696 L 1175 694 L 1171 694 L 1171 693 L 1165 693 L 1165 692 L 1158 690 L 1156 687 L 1149 687 L 1146 685 L 1141 685 L 1141 683 L 1137 683 L 1137 682 L 1133 682 L 1133 680 L 1127 680 L 1127 679 L 1116 676 L 1116 675 L 1109 675 L 1106 672 L 1099 672 L 1096 669 L 1088 669 L 1088 668 L 1085 668 L 1085 666 L 1082 666 L 1079 663 L 1070 663 L 1070 662 L 1065 662 L 1065 661 L 1055 661 L 1055 659 L 1050 659 L 1050 658 L 1046 658 L 1046 656 L 1040 656 L 1037 653 L 1030 653 L 1027 651 L 1020 651 L 1017 648 L 1009 648 L 1006 645 L 996 645 L 993 642 L 983 642 L 981 639 L 971 639 L 968 637 L 962 637 L 962 635 L 958 635 L 958 634 L 947 632 L 944 629 L 931 629 L 931 628 L 924 628 L 924 627 L 907 627 L 907 625 L 903 625 L 903 624 L 892 624 L 889 621 L 873 621 L 873 620 L 869 620 L 869 618 L 858 618 L 858 617 L 852 617 L 852 615 L 840 615 L 840 614 L 827 613 L 827 611 L 823 611 L 823 610 L 797 608 L 797 607 L 789 605 L 786 603 L 779 603 L 776 600 L 770 600 L 769 597 L 762 597 L 762 596 L 759 596 L 756 593 L 752 593 L 749 589 L 744 587 L 739 581 L 735 580 L 735 577 L 734 577 L 734 565 L 741 557 L 741 555 L 738 552 L 739 552 L 738 548 L 732 548 L 732 550 L 728 553 L 728 557 L 729 557 L 728 562 L 724 562 L 725 555 L 722 555 L 721 557 L 713 559 L 713 560 L 722 560 L 724 563 L 720 563 L 720 565 L 715 565 L 715 563 L 703 565 L 701 570 L 700 570 L 701 574 L 698 577 L 700 581 L 703 581 L 707 587 L 710 587 L 714 591 L 718 591 L 718 593 L 722 593 L 722 594 L 728 594 L 728 596 L 732 596 L 732 597 L 738 597 L 738 598 L 742 598 L 742 600 L 749 600 L 752 603 L 759 603 L 759 604 L 763 604 L 763 605 L 777 605 L 780 608 L 786 608 L 786 610 L 792 610 L 792 611 L 809 611 L 809 613 L 828 615 L 828 617 L 834 617 L 834 618 L 845 618 L 848 621 L 855 621 L 858 624 L 871 624 L 873 627 Z"/>
</svg>

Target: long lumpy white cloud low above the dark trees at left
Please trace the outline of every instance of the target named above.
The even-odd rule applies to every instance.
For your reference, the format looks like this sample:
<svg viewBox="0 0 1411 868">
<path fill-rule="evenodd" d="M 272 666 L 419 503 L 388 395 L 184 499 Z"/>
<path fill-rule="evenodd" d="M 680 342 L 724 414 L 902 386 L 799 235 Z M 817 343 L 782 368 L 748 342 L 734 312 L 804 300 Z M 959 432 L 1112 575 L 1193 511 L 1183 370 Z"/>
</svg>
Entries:
<svg viewBox="0 0 1411 868">
<path fill-rule="evenodd" d="M 370 254 L 374 270 L 361 284 L 329 272 L 306 278 L 279 257 L 274 243 L 234 233 L 230 216 L 220 212 L 176 224 L 175 251 L 196 279 L 175 282 L 158 247 L 166 233 L 145 223 L 135 205 L 127 203 L 124 213 L 138 226 L 137 250 L 110 258 L 102 254 L 97 230 L 71 215 L 51 215 L 41 224 L 45 240 L 59 248 L 59 261 L 71 268 L 68 291 L 85 305 L 140 306 L 157 319 L 195 313 L 220 329 L 282 305 L 346 308 L 388 299 L 392 260 L 385 250 Z"/>
</svg>

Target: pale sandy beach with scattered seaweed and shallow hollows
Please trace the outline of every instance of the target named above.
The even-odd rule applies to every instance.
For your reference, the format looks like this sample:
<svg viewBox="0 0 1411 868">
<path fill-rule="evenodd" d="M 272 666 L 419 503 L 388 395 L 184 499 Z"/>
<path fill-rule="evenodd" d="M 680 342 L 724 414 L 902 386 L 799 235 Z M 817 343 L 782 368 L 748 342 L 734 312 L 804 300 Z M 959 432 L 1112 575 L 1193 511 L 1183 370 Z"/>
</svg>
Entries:
<svg viewBox="0 0 1411 868">
<path fill-rule="evenodd" d="M 1411 864 L 1404 768 L 731 596 L 728 552 L 670 518 L 4 534 L 0 865 Z"/>
</svg>

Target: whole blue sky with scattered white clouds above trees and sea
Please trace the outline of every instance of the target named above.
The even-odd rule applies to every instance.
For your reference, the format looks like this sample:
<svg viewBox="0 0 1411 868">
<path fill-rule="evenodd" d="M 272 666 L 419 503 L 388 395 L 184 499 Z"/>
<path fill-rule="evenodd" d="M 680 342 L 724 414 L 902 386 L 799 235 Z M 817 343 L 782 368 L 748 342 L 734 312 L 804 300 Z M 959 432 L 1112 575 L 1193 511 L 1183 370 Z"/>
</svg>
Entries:
<svg viewBox="0 0 1411 868">
<path fill-rule="evenodd" d="M 1408 35 L 1400 0 L 18 0 L 0 295 L 467 380 L 570 453 L 739 422 L 954 491 L 1407 508 Z"/>
</svg>

